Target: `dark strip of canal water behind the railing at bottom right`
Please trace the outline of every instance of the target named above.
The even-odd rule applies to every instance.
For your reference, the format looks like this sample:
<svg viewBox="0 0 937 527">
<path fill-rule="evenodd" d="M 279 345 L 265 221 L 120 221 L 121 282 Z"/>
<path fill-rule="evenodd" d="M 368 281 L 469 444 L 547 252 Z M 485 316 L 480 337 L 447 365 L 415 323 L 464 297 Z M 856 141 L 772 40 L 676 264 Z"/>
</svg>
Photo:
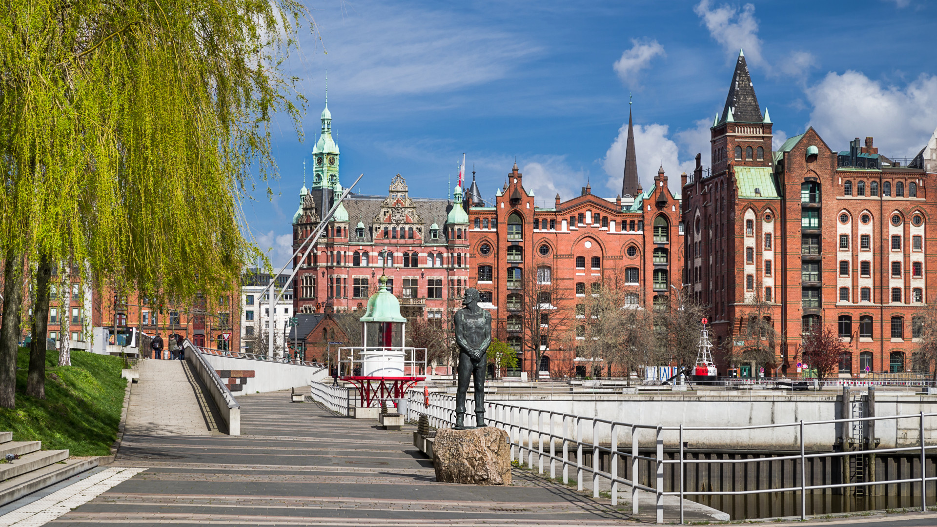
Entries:
<svg viewBox="0 0 937 527">
<path fill-rule="evenodd" d="M 687 498 L 726 512 L 732 519 L 800 516 L 800 494 L 795 492 L 766 492 L 745 496 L 687 496 Z M 929 507 L 937 504 L 937 499 L 933 494 L 928 495 L 927 503 Z M 807 516 L 865 510 L 919 509 L 920 506 L 920 496 L 807 495 Z"/>
</svg>

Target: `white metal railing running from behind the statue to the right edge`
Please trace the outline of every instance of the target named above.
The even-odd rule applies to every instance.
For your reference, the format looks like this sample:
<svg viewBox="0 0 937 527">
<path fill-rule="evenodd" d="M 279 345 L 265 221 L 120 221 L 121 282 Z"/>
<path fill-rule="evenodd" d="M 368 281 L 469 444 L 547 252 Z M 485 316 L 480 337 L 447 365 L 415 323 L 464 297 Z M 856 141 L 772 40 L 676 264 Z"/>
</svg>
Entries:
<svg viewBox="0 0 937 527">
<path fill-rule="evenodd" d="M 420 390 L 409 390 L 408 399 L 408 419 L 417 420 L 421 414 L 429 418 L 429 425 L 433 428 L 451 427 L 455 423 L 455 396 L 444 393 L 430 393 L 429 404 L 425 404 L 424 392 Z M 619 486 L 631 488 L 632 492 L 632 513 L 638 513 L 638 490 L 645 490 L 655 495 L 655 506 L 657 509 L 657 522 L 663 523 L 663 496 L 680 497 L 680 523 L 684 522 L 684 502 L 685 496 L 705 496 L 705 495 L 744 495 L 744 494 L 763 494 L 766 492 L 799 492 L 800 493 L 800 518 L 807 518 L 807 492 L 818 489 L 843 489 L 848 487 L 867 487 L 871 485 L 887 485 L 897 483 L 919 484 L 921 490 L 921 511 L 927 511 L 927 482 L 937 481 L 937 476 L 928 477 L 927 471 L 923 469 L 927 464 L 925 454 L 928 450 L 931 453 L 937 450 L 937 442 L 926 444 L 926 430 L 937 428 L 937 414 L 907 414 L 907 415 L 888 415 L 885 417 L 857 417 L 851 419 L 829 419 L 825 421 L 797 421 L 796 423 L 783 423 L 778 425 L 756 425 L 750 427 L 663 427 L 660 425 L 646 425 L 636 423 L 624 423 L 611 421 L 600 417 L 588 417 L 575 414 L 564 414 L 550 410 L 539 410 L 536 408 L 527 408 L 506 404 L 500 401 L 485 402 L 485 422 L 491 427 L 498 427 L 508 432 L 511 441 L 511 460 L 518 460 L 521 463 L 527 461 L 528 469 L 535 466 L 539 474 L 543 474 L 543 464 L 546 461 L 549 464 L 549 473 L 551 478 L 557 477 L 557 470 L 562 472 L 564 484 L 569 483 L 570 468 L 575 470 L 577 489 L 583 490 L 583 476 L 585 473 L 591 474 L 592 478 L 592 497 L 599 497 L 600 479 L 608 480 L 611 486 L 611 504 L 618 504 Z M 466 426 L 475 424 L 474 401 L 471 398 L 466 399 Z M 844 452 L 824 452 L 819 454 L 807 454 L 804 449 L 804 428 L 810 426 L 829 426 L 834 428 L 837 423 L 853 423 L 856 421 L 883 421 L 896 419 L 915 419 L 919 421 L 920 440 L 916 446 L 898 447 L 898 448 L 877 448 L 870 450 L 850 450 Z M 925 428 L 925 421 L 928 425 Z M 765 458 L 751 459 L 684 459 L 684 432 L 687 430 L 723 430 L 732 432 L 737 430 L 751 429 L 780 429 L 796 427 L 798 431 L 800 453 L 792 456 L 774 456 Z M 610 432 L 611 444 L 602 444 L 598 441 L 600 433 L 608 430 Z M 648 431 L 649 430 L 649 431 Z M 663 432 L 669 431 L 670 434 Z M 673 437 L 673 431 L 677 431 L 678 443 L 671 444 L 669 447 L 678 450 L 678 459 L 664 459 L 664 439 L 665 435 Z M 931 432 L 932 433 L 932 432 Z M 622 450 L 618 447 L 619 436 L 626 435 L 631 439 L 631 450 Z M 639 440 L 648 440 L 653 438 L 656 447 L 654 457 L 642 456 L 639 453 Z M 544 450 L 544 447 L 546 448 Z M 570 459 L 570 449 L 575 449 L 575 460 Z M 591 466 L 583 465 L 583 449 L 588 448 L 592 452 Z M 558 454 L 558 449 L 561 452 Z M 605 472 L 599 468 L 600 453 L 605 452 L 610 456 L 611 470 Z M 813 458 L 835 458 L 840 456 L 862 456 L 867 454 L 885 454 L 889 452 L 919 452 L 922 470 L 920 477 L 906 479 L 885 479 L 872 482 L 855 482 L 843 484 L 827 485 L 807 485 L 807 459 Z M 647 487 L 640 483 L 635 483 L 630 479 L 618 475 L 619 460 L 630 459 L 632 463 L 632 474 L 639 474 L 638 461 L 640 459 L 654 463 L 655 467 L 655 485 Z M 781 489 L 755 489 L 755 490 L 684 490 L 684 476 L 688 465 L 693 463 L 758 463 L 766 461 L 780 461 L 787 459 L 799 459 L 800 485 L 797 487 Z M 665 464 L 679 465 L 679 482 L 677 491 L 663 491 L 663 473 Z"/>
</svg>

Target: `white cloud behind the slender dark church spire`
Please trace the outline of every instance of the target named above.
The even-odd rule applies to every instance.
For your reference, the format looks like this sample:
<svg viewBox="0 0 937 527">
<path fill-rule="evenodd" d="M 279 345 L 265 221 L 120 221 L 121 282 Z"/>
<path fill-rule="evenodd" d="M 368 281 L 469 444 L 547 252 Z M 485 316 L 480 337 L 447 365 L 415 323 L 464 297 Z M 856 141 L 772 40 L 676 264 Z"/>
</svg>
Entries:
<svg viewBox="0 0 937 527">
<path fill-rule="evenodd" d="M 634 155 L 637 158 L 638 178 L 641 186 L 647 190 L 654 184 L 654 176 L 662 166 L 664 174 L 668 177 L 667 184 L 675 194 L 680 193 L 680 173 L 692 173 L 696 166 L 695 161 L 680 160 L 677 143 L 667 137 L 667 125 L 650 124 L 634 126 Z M 605 158 L 602 159 L 602 169 L 608 174 L 605 187 L 612 191 L 612 195 L 621 193 L 621 179 L 625 169 L 625 147 L 628 143 L 628 123 L 618 128 L 618 137 L 608 147 Z M 708 152 L 709 147 L 706 145 Z M 693 152 L 692 156 L 696 153 Z"/>
</svg>

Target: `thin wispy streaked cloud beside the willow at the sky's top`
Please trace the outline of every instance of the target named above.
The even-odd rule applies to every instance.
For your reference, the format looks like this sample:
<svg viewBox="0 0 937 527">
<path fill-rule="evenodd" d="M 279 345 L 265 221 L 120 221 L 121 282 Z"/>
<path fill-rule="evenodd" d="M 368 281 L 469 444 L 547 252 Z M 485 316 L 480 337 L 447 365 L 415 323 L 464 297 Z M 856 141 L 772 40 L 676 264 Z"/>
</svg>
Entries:
<svg viewBox="0 0 937 527">
<path fill-rule="evenodd" d="M 343 98 L 450 91 L 504 78 L 538 51 L 516 33 L 444 9 L 362 2 L 337 15 L 316 14 L 328 54 L 316 61 L 315 73 L 305 65 L 313 93 L 322 93 L 324 68 Z"/>
</svg>

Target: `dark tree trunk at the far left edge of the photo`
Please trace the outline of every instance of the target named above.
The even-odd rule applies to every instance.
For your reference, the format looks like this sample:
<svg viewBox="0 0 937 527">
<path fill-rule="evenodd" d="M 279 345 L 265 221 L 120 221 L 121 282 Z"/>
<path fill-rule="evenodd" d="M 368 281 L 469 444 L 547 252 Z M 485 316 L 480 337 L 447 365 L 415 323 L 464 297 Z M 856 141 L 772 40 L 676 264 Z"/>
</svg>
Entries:
<svg viewBox="0 0 937 527">
<path fill-rule="evenodd" d="M 0 406 L 16 408 L 16 355 L 20 349 L 23 255 L 7 251 L 0 324 Z"/>
</svg>

